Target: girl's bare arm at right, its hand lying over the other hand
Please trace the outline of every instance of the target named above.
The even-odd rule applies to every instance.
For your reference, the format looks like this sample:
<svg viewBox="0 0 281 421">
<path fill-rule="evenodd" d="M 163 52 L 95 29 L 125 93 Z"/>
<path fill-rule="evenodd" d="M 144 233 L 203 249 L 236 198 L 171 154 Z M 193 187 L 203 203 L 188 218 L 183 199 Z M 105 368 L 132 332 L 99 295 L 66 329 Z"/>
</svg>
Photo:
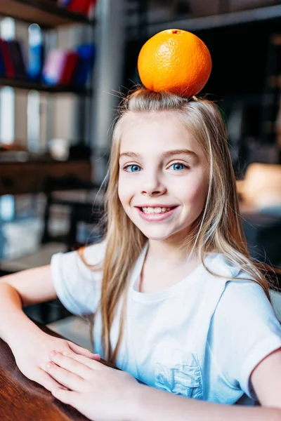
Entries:
<svg viewBox="0 0 281 421">
<path fill-rule="evenodd" d="M 53 396 L 95 421 L 280 421 L 281 349 L 254 369 L 251 380 L 261 405 L 222 405 L 140 385 L 128 373 L 84 356 L 51 355 L 46 370 L 67 387 Z M 108 403 L 110 402 L 110 405 Z"/>
</svg>

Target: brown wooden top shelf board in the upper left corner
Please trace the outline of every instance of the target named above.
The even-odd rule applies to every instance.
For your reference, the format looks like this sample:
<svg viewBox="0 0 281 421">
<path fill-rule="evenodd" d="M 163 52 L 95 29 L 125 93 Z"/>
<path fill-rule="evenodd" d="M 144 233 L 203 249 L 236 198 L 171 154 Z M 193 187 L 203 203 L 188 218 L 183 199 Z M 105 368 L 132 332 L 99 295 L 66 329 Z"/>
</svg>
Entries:
<svg viewBox="0 0 281 421">
<path fill-rule="evenodd" d="M 60 8 L 51 0 L 1 0 L 0 16 L 22 20 L 28 23 L 37 23 L 42 28 L 58 27 L 73 23 L 93 25 L 80 13 L 72 13 Z"/>
</svg>

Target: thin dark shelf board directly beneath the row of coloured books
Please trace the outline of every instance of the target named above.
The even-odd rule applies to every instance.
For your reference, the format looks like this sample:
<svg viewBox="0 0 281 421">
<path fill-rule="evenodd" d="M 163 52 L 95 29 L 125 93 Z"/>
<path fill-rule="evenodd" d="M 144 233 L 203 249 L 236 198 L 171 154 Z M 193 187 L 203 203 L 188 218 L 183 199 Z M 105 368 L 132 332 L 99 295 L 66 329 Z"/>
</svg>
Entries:
<svg viewBox="0 0 281 421">
<path fill-rule="evenodd" d="M 48 92 L 48 93 L 74 93 L 76 95 L 91 95 L 91 89 L 72 88 L 71 86 L 48 86 L 42 83 L 32 81 L 20 81 L 16 79 L 8 79 L 0 77 L 0 86 L 11 86 L 15 89 L 25 89 L 26 91 Z"/>
</svg>

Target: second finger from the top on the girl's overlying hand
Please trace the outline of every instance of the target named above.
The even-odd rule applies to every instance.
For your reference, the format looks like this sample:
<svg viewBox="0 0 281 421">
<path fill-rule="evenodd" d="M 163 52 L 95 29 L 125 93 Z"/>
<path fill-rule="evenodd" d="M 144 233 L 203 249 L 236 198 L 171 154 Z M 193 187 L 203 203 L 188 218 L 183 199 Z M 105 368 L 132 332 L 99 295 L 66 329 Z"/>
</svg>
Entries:
<svg viewBox="0 0 281 421">
<path fill-rule="evenodd" d="M 56 366 L 53 362 L 46 364 L 46 372 L 60 385 L 67 387 L 67 389 L 74 392 L 82 392 L 84 390 L 85 380 L 82 377 L 65 370 L 65 368 Z"/>
</svg>

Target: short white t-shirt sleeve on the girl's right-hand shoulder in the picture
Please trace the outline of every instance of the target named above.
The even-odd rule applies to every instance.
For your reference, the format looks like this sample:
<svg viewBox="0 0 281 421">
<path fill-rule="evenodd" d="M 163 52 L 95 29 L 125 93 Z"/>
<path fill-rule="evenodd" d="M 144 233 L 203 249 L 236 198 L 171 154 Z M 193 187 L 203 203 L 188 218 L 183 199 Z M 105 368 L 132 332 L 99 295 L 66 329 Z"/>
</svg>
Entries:
<svg viewBox="0 0 281 421">
<path fill-rule="evenodd" d="M 221 374 L 256 399 L 251 372 L 281 347 L 281 326 L 263 288 L 254 281 L 229 281 L 211 320 L 209 347 Z"/>
</svg>

